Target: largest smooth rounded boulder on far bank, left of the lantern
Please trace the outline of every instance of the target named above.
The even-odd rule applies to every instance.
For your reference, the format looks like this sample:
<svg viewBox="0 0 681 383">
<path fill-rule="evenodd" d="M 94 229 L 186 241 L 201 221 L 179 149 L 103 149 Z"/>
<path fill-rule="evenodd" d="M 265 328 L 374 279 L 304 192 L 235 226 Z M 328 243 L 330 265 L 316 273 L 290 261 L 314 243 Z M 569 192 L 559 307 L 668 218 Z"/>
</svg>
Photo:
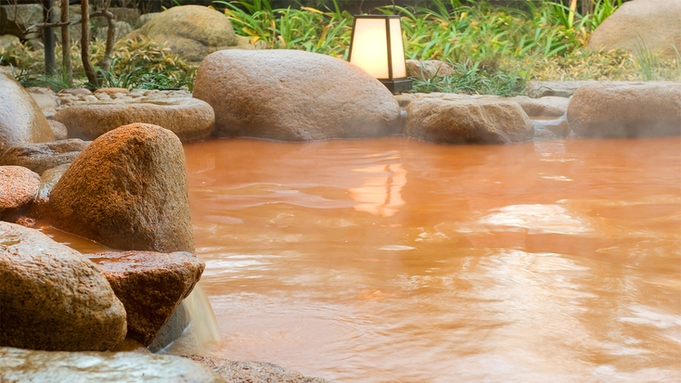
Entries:
<svg viewBox="0 0 681 383">
<path fill-rule="evenodd" d="M 199 67 L 194 97 L 213 107 L 222 137 L 312 141 L 402 133 L 398 104 L 383 84 L 315 53 L 213 53 Z"/>
</svg>

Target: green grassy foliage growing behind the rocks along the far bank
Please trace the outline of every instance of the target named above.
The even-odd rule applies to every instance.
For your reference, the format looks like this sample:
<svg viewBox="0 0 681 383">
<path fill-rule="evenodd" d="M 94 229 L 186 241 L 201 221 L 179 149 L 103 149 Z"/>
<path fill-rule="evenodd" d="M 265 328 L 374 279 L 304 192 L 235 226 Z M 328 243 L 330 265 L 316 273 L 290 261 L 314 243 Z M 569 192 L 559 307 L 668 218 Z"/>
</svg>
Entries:
<svg viewBox="0 0 681 383">
<path fill-rule="evenodd" d="M 263 48 L 299 49 L 347 58 L 353 16 L 342 11 L 344 0 L 322 1 L 324 9 L 298 6 L 275 8 L 269 0 L 218 0 L 235 31 Z M 312 2 L 308 2 L 312 4 Z M 525 7 L 491 6 L 484 1 L 429 0 L 414 6 L 377 8 L 398 13 L 407 58 L 436 59 L 450 64 L 454 74 L 415 81 L 419 92 L 463 92 L 513 95 L 528 80 L 649 80 L 681 79 L 681 54 L 671 60 L 654 55 L 644 45 L 637 52 L 588 52 L 594 29 L 622 4 L 600 0 L 594 13 L 580 15 L 561 2 L 525 1 Z M 427 4 L 427 7 L 418 6 Z M 72 46 L 76 86 L 84 73 L 78 44 Z M 61 49 L 57 48 L 57 61 Z M 94 62 L 104 56 L 104 42 L 91 46 Z M 42 50 L 26 46 L 2 50 L 0 64 L 12 65 L 25 85 L 65 86 L 64 71 L 45 77 Z M 192 87 L 196 68 L 163 46 L 148 40 L 116 44 L 108 71 L 98 71 L 102 86 L 168 89 Z"/>
</svg>

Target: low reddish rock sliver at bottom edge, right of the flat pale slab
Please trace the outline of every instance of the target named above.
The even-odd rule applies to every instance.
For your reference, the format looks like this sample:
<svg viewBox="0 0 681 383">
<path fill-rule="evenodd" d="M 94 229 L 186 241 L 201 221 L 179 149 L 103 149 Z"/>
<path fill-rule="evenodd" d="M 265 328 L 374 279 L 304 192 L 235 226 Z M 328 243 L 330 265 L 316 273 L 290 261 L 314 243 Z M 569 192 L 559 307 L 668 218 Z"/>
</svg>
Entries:
<svg viewBox="0 0 681 383">
<path fill-rule="evenodd" d="M 286 382 L 286 383 L 327 383 L 326 379 L 303 376 L 301 373 L 262 362 L 235 362 L 226 359 L 197 355 L 185 355 L 216 371 L 226 382 Z"/>
</svg>

